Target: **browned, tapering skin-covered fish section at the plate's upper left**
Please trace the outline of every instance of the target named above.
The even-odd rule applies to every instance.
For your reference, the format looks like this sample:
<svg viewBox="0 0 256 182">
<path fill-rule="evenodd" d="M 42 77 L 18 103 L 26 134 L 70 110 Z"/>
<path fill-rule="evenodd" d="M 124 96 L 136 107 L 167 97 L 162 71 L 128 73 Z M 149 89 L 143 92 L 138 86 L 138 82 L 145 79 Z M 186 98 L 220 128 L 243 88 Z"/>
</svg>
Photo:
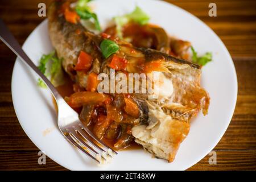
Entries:
<svg viewBox="0 0 256 182">
<path fill-rule="evenodd" d="M 63 68 L 75 80 L 72 74 L 80 51 L 85 51 L 95 57 L 100 63 L 103 56 L 100 51 L 102 38 L 86 30 L 80 23 L 73 24 L 59 15 L 61 5 L 66 1 L 53 1 L 48 10 L 48 30 L 57 56 L 63 58 Z M 77 34 L 77 31 L 80 34 Z"/>
</svg>

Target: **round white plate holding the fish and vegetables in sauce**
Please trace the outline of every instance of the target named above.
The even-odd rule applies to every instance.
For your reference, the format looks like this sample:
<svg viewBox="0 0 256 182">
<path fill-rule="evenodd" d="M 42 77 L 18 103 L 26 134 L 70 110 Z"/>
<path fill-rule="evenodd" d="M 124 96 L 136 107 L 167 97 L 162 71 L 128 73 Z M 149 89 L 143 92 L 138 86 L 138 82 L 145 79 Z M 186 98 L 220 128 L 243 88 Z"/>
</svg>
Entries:
<svg viewBox="0 0 256 182">
<path fill-rule="evenodd" d="M 119 152 L 111 164 L 98 167 L 61 135 L 57 129 L 56 113 L 49 90 L 36 86 L 35 73 L 18 60 L 13 70 L 12 94 L 20 125 L 32 142 L 45 151 L 49 158 L 72 170 L 184 170 L 193 166 L 216 146 L 233 115 L 237 100 L 237 76 L 228 50 L 201 20 L 170 3 L 153 0 L 108 0 L 92 3 L 102 27 L 113 16 L 129 13 L 138 5 L 151 16 L 151 23 L 164 27 L 170 35 L 189 40 L 199 55 L 212 52 L 213 61 L 203 68 L 202 74 L 202 85 L 211 98 L 209 114 L 205 117 L 199 114 L 193 120 L 191 131 L 181 143 L 172 163 L 151 158 L 143 150 L 130 150 Z M 47 20 L 32 32 L 23 49 L 36 65 L 42 53 L 52 51 Z"/>
</svg>

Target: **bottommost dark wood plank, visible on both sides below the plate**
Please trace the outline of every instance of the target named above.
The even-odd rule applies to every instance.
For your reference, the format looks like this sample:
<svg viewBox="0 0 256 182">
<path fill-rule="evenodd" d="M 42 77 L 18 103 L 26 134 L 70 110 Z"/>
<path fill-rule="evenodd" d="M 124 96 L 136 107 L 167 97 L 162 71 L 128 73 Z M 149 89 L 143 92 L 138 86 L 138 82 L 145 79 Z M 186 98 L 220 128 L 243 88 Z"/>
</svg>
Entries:
<svg viewBox="0 0 256 182">
<path fill-rule="evenodd" d="M 255 151 L 216 151 L 217 164 L 209 164 L 205 156 L 189 170 L 253 170 Z M 0 170 L 65 170 L 48 157 L 45 165 L 38 164 L 38 152 L 0 152 Z M 29 159 L 29 160 L 28 160 Z"/>
</svg>

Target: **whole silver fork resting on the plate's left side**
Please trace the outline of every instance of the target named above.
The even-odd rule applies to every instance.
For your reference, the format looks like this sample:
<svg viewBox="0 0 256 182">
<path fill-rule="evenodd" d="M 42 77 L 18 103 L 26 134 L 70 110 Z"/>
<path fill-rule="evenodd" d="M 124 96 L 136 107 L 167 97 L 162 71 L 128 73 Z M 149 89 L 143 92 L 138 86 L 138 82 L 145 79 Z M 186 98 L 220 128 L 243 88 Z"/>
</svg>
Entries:
<svg viewBox="0 0 256 182">
<path fill-rule="evenodd" d="M 13 34 L 5 26 L 5 23 L 0 19 L 0 39 L 3 43 L 13 51 L 20 60 L 31 67 L 44 83 L 51 90 L 53 97 L 57 102 L 58 107 L 58 126 L 64 137 L 79 148 L 90 158 L 98 163 L 106 160 L 107 157 L 112 157 L 117 154 L 113 149 L 99 140 L 87 127 L 85 127 L 79 119 L 79 115 L 74 111 L 60 96 L 55 87 L 51 84 L 46 76 L 36 67 L 26 53 L 22 50 L 19 43 L 14 38 Z"/>
</svg>

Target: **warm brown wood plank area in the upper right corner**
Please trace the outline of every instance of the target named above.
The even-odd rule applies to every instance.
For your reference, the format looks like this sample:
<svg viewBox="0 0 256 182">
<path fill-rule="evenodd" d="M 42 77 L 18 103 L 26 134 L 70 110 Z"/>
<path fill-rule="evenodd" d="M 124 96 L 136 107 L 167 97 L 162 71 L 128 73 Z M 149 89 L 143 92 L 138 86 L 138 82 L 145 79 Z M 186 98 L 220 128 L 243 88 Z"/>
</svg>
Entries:
<svg viewBox="0 0 256 182">
<path fill-rule="evenodd" d="M 217 17 L 208 16 L 213 1 L 174 1 L 203 20 L 224 42 L 234 57 L 256 56 L 256 1 L 214 1 Z"/>
</svg>

